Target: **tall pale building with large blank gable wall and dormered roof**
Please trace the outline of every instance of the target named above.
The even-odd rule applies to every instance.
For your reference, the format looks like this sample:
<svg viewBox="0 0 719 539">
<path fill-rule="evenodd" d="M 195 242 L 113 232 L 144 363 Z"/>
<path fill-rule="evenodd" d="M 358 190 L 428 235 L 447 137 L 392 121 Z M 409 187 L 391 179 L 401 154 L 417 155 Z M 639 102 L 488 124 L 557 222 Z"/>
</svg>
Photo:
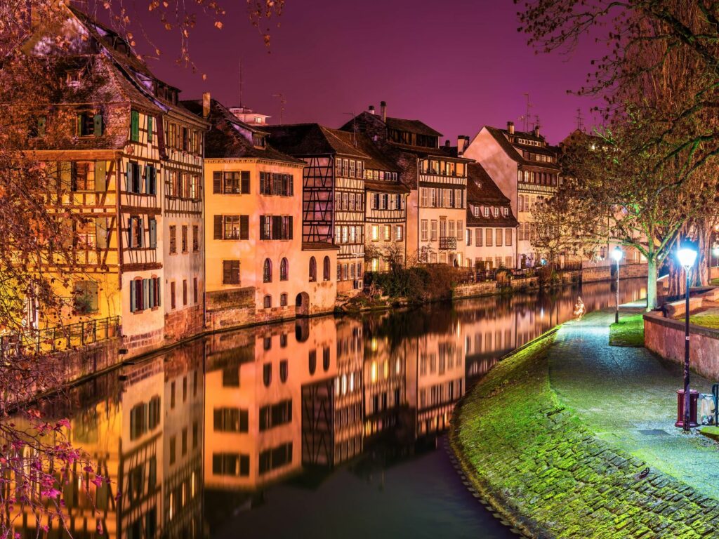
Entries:
<svg viewBox="0 0 719 539">
<path fill-rule="evenodd" d="M 537 203 L 551 198 L 559 187 L 559 149 L 546 142 L 536 126 L 531 132 L 484 126 L 471 141 L 462 138 L 458 152 L 482 165 L 502 193 L 510 199 L 518 221 L 517 267 L 539 264 L 532 247 L 531 212 Z"/>
</svg>

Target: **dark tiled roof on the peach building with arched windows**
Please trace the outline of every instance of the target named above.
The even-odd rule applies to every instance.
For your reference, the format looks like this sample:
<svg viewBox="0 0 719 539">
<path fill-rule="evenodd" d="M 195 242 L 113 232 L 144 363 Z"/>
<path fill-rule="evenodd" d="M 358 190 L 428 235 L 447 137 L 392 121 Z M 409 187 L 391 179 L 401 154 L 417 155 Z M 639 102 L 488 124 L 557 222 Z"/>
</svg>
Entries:
<svg viewBox="0 0 719 539">
<path fill-rule="evenodd" d="M 183 101 L 182 104 L 194 114 L 202 115 L 202 101 Z M 205 136 L 205 157 L 209 159 L 245 157 L 304 164 L 301 160 L 279 152 L 270 144 L 265 145 L 264 148 L 255 147 L 247 134 L 251 136 L 252 133 L 264 133 L 264 131 L 245 124 L 216 99 L 210 101 L 208 121 L 210 129 Z"/>
</svg>

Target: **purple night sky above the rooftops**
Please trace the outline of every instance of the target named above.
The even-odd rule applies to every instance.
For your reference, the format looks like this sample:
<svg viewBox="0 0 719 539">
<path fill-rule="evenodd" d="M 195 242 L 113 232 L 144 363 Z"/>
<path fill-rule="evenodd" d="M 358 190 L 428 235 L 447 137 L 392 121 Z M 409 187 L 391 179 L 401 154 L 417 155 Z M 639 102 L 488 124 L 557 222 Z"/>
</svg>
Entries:
<svg viewBox="0 0 719 539">
<path fill-rule="evenodd" d="M 199 73 L 175 65 L 178 36 L 160 32 L 164 53 L 150 65 L 183 89 L 182 98 L 209 91 L 236 104 L 242 57 L 244 105 L 270 114 L 271 123 L 280 121 L 273 93 L 285 96 L 286 123 L 332 127 L 349 119 L 345 113 L 379 109 L 385 100 L 389 116 L 421 119 L 444 134 L 442 143 L 455 144 L 457 134 L 473 136 L 485 124 L 512 120 L 521 129 L 525 92 L 551 143 L 577 126 L 577 108 L 585 125 L 593 123 L 592 101 L 567 90 L 582 86 L 600 48 L 587 43 L 572 55 L 535 55 L 516 31 L 510 0 L 287 0 L 280 27 L 272 28 L 271 54 L 244 1 L 223 4 L 223 29 L 203 19 L 191 35 Z"/>
</svg>

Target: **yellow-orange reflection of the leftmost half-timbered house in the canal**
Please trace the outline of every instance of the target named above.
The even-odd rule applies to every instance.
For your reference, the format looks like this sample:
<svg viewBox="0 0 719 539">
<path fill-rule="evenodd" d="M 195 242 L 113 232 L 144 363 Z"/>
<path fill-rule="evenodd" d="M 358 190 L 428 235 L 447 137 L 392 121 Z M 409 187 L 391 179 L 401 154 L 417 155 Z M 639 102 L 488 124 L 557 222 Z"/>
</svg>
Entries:
<svg viewBox="0 0 719 539">
<path fill-rule="evenodd" d="M 73 537 L 94 537 L 98 524 L 102 536 L 111 539 L 200 536 L 202 361 L 203 343 L 197 341 L 76 387 L 70 398 L 46 411 L 48 417 L 63 417 L 66 405 L 82 403 L 70 418 L 70 442 L 111 481 L 96 487 L 75 466 L 73 479 L 63 487 Z M 188 380 L 185 398 L 183 379 Z M 36 536 L 32 517 L 25 515 L 17 526 L 21 537 Z M 64 535 L 52 529 L 40 535 L 55 536 Z"/>
</svg>

